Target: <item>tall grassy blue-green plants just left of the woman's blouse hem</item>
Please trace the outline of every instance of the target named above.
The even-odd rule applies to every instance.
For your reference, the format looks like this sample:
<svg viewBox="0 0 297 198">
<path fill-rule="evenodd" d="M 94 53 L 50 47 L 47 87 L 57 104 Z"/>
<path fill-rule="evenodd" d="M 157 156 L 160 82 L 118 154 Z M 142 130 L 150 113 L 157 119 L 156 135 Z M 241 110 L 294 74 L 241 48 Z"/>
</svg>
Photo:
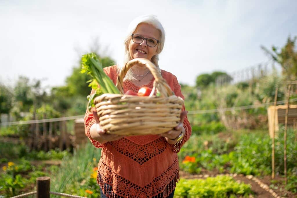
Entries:
<svg viewBox="0 0 297 198">
<path fill-rule="evenodd" d="M 73 157 L 63 158 L 59 169 L 51 173 L 50 190 L 80 196 L 98 196 L 99 186 L 91 174 L 93 174 L 93 168 L 97 167 L 100 156 L 101 150 L 96 149 L 89 142 L 84 147 L 76 149 Z"/>
</svg>

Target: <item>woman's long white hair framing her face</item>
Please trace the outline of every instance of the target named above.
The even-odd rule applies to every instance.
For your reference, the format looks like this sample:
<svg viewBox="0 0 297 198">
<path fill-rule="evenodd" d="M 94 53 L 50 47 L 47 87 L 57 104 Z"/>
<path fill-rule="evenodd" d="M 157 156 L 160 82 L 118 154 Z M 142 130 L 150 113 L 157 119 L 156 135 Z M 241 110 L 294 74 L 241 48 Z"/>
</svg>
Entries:
<svg viewBox="0 0 297 198">
<path fill-rule="evenodd" d="M 118 72 L 121 70 L 121 68 L 123 66 L 125 66 L 125 64 L 129 60 L 131 60 L 130 53 L 129 53 L 129 43 L 130 43 L 130 41 L 132 39 L 131 35 L 134 33 L 134 31 L 136 30 L 137 26 L 140 23 L 150 24 L 150 25 L 154 26 L 160 32 L 160 38 L 159 38 L 159 42 L 157 44 L 157 55 L 154 55 L 151 58 L 151 62 L 154 63 L 155 66 L 157 66 L 159 72 L 161 73 L 161 70 L 160 70 L 159 64 L 158 64 L 158 60 L 159 60 L 159 53 L 162 52 L 163 47 L 164 47 L 165 31 L 164 31 L 164 28 L 163 28 L 162 24 L 160 23 L 160 21 L 154 15 L 143 15 L 143 16 L 137 17 L 134 20 L 132 20 L 131 23 L 129 24 L 127 32 L 126 32 L 126 37 L 125 37 L 125 40 L 124 40 L 124 47 L 125 47 L 125 49 L 124 49 L 124 62 L 122 64 L 118 64 Z M 129 70 L 127 72 L 125 79 L 128 79 L 128 80 L 135 79 L 135 77 L 132 75 L 131 70 Z"/>
</svg>

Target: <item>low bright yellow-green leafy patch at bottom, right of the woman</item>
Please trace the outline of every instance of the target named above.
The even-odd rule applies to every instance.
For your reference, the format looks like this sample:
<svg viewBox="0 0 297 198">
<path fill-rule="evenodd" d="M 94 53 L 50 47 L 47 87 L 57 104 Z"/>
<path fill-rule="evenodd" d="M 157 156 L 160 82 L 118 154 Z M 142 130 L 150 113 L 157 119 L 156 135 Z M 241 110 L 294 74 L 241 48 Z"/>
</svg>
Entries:
<svg viewBox="0 0 297 198">
<path fill-rule="evenodd" d="M 248 197 L 251 194 L 249 184 L 237 183 L 230 176 L 217 176 L 206 179 L 181 179 L 176 185 L 174 197 L 196 198 L 196 197 L 217 197 L 225 198 L 232 196 Z"/>
</svg>

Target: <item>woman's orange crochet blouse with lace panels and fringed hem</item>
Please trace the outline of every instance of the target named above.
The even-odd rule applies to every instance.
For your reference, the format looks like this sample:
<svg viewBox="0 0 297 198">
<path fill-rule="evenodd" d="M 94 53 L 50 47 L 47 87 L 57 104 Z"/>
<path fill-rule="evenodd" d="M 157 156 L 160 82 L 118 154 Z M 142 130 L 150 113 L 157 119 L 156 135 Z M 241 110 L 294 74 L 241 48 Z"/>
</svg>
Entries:
<svg viewBox="0 0 297 198">
<path fill-rule="evenodd" d="M 106 67 L 104 71 L 116 84 L 118 76 L 116 66 Z M 184 99 L 176 76 L 164 70 L 161 70 L 161 74 L 173 92 Z M 145 86 L 152 88 L 153 80 Z M 130 81 L 124 81 L 125 92 L 127 90 L 138 92 L 139 88 Z M 93 92 L 94 90 L 91 93 Z M 183 106 L 182 111 L 184 109 Z M 159 135 L 129 136 L 101 144 L 90 136 L 90 127 L 95 123 L 93 111 L 95 111 L 94 108 L 91 112 L 86 111 L 85 131 L 92 144 L 102 148 L 97 183 L 103 193 L 106 194 L 104 185 L 108 184 L 113 190 L 107 195 L 108 197 L 118 195 L 142 198 L 160 194 L 168 197 L 179 180 L 177 153 L 191 135 L 191 126 L 187 117 L 184 119 L 186 130 L 184 138 L 174 145 L 167 143 L 165 138 Z"/>
</svg>

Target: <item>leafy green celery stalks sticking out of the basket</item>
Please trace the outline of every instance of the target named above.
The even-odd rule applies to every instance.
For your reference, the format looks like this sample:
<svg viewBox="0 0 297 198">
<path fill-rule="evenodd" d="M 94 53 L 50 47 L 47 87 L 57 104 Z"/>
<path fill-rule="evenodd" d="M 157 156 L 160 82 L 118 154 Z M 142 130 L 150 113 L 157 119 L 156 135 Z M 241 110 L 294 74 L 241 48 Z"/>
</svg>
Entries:
<svg viewBox="0 0 297 198">
<path fill-rule="evenodd" d="M 89 100 L 88 108 L 94 107 L 94 98 L 104 93 L 115 93 L 120 94 L 120 91 L 113 84 L 112 80 L 105 74 L 102 68 L 102 64 L 98 57 L 94 53 L 88 53 L 83 55 L 81 58 L 82 69 L 80 73 L 87 73 L 92 76 L 92 80 L 89 82 L 89 87 L 96 90 L 92 95 L 89 95 L 87 99 Z M 99 84 L 99 87 L 98 87 Z"/>
</svg>

